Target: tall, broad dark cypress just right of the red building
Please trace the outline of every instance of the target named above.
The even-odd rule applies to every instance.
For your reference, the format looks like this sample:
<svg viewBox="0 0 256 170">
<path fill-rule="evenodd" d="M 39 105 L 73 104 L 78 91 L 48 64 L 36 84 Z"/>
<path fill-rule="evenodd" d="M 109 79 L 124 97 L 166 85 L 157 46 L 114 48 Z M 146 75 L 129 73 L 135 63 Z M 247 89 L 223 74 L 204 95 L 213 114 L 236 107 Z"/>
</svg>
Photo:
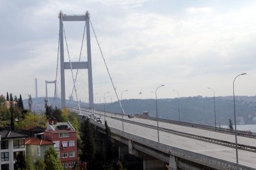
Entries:
<svg viewBox="0 0 256 170">
<path fill-rule="evenodd" d="M 95 156 L 95 142 L 93 136 L 93 128 L 89 119 L 84 120 L 81 125 L 82 154 L 80 158 L 82 162 L 89 164 Z"/>
</svg>

